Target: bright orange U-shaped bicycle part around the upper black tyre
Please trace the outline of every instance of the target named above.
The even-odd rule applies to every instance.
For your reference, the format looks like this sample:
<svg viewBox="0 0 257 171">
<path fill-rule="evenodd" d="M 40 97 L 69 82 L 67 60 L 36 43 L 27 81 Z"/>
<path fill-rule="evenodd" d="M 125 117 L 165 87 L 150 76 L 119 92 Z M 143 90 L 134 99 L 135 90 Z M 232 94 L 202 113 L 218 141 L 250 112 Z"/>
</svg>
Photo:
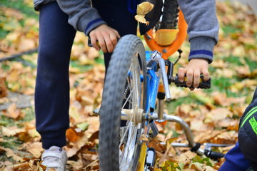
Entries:
<svg viewBox="0 0 257 171">
<path fill-rule="evenodd" d="M 181 47 L 183 41 L 186 39 L 187 35 L 187 27 L 186 20 L 184 19 L 183 13 L 180 10 L 178 13 L 178 33 L 176 36 L 176 40 L 171 43 L 169 46 L 160 46 L 153 38 L 153 29 L 146 32 L 144 35 L 144 39 L 146 40 L 146 43 L 149 48 L 151 48 L 152 51 L 157 50 L 163 54 L 162 58 L 164 60 L 168 59 L 169 56 L 171 56 L 173 53 L 178 51 L 178 48 Z"/>
</svg>

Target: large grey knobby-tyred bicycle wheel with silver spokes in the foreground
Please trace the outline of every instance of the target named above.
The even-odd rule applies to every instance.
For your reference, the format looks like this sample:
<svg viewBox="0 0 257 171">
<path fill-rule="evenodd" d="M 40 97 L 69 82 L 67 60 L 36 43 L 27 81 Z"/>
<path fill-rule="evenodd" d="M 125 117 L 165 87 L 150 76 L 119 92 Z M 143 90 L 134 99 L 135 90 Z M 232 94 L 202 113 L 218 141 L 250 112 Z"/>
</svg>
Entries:
<svg viewBox="0 0 257 171">
<path fill-rule="evenodd" d="M 121 125 L 121 110 L 145 108 L 146 59 L 137 36 L 122 37 L 111 56 L 100 110 L 99 161 L 101 171 L 136 170 L 141 150 L 137 143 L 143 123 Z"/>
</svg>

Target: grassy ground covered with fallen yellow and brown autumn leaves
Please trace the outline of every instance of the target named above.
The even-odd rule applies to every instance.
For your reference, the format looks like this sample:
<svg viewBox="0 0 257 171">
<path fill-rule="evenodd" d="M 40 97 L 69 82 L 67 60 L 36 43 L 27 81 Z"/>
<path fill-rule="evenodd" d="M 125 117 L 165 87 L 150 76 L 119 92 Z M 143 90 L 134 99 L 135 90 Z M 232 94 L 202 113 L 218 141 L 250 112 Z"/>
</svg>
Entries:
<svg viewBox="0 0 257 171">
<path fill-rule="evenodd" d="M 196 142 L 234 144 L 238 120 L 257 86 L 257 22 L 251 8 L 241 4 L 218 2 L 217 13 L 221 28 L 209 68 L 212 88 L 191 92 L 171 86 L 173 100 L 166 103 L 166 113 L 183 118 Z M 34 120 L 37 53 L 13 56 L 37 47 L 38 29 L 38 14 L 31 1 L 0 1 L 0 170 L 44 170 Z M 99 118 L 92 110 L 101 103 L 104 60 L 86 42 L 84 34 L 77 33 L 71 54 L 67 170 L 99 170 Z M 187 63 L 188 42 L 182 50 L 183 58 L 175 69 Z M 9 56 L 13 58 L 4 60 Z M 177 56 L 174 54 L 171 61 Z M 150 144 L 157 153 L 154 170 L 218 170 L 222 164 L 224 159 L 214 161 L 186 147 L 169 145 L 186 142 L 179 125 L 158 127 L 160 134 Z M 226 153 L 230 148 L 213 150 Z"/>
</svg>

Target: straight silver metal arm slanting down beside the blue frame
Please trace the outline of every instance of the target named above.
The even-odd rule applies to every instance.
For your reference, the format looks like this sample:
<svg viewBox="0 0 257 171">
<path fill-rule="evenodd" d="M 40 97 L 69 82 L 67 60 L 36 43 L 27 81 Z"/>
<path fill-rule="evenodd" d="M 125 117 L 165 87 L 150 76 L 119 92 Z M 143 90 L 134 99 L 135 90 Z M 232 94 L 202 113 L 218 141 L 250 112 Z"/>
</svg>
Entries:
<svg viewBox="0 0 257 171">
<path fill-rule="evenodd" d="M 159 53 L 158 51 L 153 51 L 152 58 L 153 58 L 153 61 L 156 61 L 156 63 L 159 64 L 159 67 L 161 69 L 161 76 L 162 76 L 162 80 L 163 80 L 163 86 L 164 86 L 164 89 L 165 89 L 166 100 L 170 101 L 171 100 L 171 93 L 170 93 L 170 90 L 168 88 L 168 78 L 167 78 L 167 74 L 166 74 L 165 61 L 163 60 L 163 58 L 161 58 L 161 53 Z"/>
</svg>

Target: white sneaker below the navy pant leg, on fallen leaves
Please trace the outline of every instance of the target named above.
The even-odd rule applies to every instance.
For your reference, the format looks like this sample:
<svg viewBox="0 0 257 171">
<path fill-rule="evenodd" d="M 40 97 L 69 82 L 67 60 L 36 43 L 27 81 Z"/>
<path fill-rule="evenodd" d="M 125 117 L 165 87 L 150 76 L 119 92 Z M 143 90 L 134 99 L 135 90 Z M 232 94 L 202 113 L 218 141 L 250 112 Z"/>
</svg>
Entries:
<svg viewBox="0 0 257 171">
<path fill-rule="evenodd" d="M 51 146 L 49 150 L 43 152 L 41 160 L 43 161 L 41 165 L 46 166 L 46 171 L 50 169 L 65 171 L 67 154 L 60 147 Z"/>
</svg>

